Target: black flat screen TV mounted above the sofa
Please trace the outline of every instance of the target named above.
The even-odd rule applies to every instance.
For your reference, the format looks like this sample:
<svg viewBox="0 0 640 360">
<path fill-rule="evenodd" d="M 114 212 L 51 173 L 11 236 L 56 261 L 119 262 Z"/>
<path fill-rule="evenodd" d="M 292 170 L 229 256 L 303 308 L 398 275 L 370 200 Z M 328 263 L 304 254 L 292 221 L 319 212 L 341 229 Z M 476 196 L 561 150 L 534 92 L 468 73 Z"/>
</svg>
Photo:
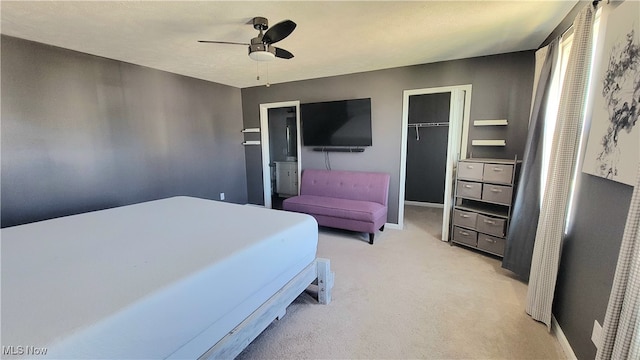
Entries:
<svg viewBox="0 0 640 360">
<path fill-rule="evenodd" d="M 371 146 L 371 99 L 300 105 L 305 146 Z"/>
</svg>

